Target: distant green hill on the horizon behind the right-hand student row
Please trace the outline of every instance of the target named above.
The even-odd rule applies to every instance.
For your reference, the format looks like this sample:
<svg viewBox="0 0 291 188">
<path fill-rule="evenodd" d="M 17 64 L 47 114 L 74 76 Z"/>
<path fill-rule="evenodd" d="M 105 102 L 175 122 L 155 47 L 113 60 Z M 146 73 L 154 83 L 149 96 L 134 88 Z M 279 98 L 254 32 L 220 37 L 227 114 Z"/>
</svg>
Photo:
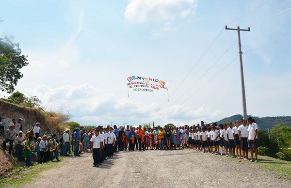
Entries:
<svg viewBox="0 0 291 188">
<path fill-rule="evenodd" d="M 249 115 L 251 116 L 251 115 Z M 291 116 L 276 116 L 276 117 L 255 117 L 251 116 L 256 120 L 256 123 L 259 125 L 259 129 L 272 128 L 276 124 L 284 124 L 286 126 L 291 126 Z M 242 115 L 233 115 L 222 120 L 219 120 L 217 125 L 226 124 L 227 122 L 234 123 L 236 120 L 242 120 Z"/>
</svg>

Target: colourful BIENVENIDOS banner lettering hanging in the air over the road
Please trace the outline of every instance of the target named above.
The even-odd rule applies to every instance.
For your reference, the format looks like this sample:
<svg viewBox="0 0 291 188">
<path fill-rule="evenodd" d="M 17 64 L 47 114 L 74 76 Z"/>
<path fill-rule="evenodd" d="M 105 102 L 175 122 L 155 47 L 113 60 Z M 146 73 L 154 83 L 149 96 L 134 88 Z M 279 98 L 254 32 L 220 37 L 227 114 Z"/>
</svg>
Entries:
<svg viewBox="0 0 291 188">
<path fill-rule="evenodd" d="M 157 78 L 130 76 L 127 80 L 129 89 L 132 89 L 133 91 L 154 93 L 154 91 L 160 89 L 168 90 L 166 82 Z"/>
</svg>

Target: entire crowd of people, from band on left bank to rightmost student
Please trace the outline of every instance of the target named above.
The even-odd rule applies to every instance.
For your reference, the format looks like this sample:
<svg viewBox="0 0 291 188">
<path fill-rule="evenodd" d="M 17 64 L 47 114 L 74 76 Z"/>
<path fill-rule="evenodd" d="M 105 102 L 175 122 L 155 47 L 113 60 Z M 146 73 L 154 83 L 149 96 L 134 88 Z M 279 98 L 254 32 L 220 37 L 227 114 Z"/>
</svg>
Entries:
<svg viewBox="0 0 291 188">
<path fill-rule="evenodd" d="M 0 117 L 0 125 L 1 121 Z M 74 157 L 80 156 L 82 150 L 92 152 L 93 167 L 102 165 L 102 162 L 112 157 L 116 151 L 184 148 L 243 160 L 249 159 L 248 151 L 250 150 L 250 161 L 258 162 L 258 125 L 251 117 L 242 122 L 236 121 L 234 125 L 232 122 L 225 125 L 216 123 L 205 125 L 201 121 L 201 124 L 192 126 L 165 125 L 162 127 L 158 125 L 153 128 L 142 127 L 142 125 L 117 128 L 114 125 L 113 127 L 97 126 L 86 130 L 86 127 L 77 127 L 71 135 L 69 135 L 70 129 L 66 128 L 60 137 L 52 134 L 49 128 L 40 137 L 41 126 L 40 123 L 36 123 L 33 127 L 34 137 L 28 138 L 27 146 L 24 144 L 22 121 L 22 118 L 17 121 L 12 119 L 8 129 L 2 131 L 5 136 L 2 149 L 5 151 L 6 144 L 9 142 L 8 153 L 11 155 L 15 145 L 15 156 L 19 161 L 22 160 L 23 155 L 26 156 L 26 166 L 31 166 L 34 153 L 36 153 L 38 163 L 45 163 L 54 158 L 59 161 L 59 153 L 61 156 L 70 155 L 70 148 L 74 152 Z"/>
</svg>

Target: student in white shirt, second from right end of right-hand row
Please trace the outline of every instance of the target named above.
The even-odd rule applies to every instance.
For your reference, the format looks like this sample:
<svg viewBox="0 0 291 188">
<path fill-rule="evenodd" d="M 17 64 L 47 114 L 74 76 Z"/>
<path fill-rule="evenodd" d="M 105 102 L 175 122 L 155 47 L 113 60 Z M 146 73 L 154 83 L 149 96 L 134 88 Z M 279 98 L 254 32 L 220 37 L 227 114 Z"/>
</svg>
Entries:
<svg viewBox="0 0 291 188">
<path fill-rule="evenodd" d="M 246 124 L 247 124 L 247 121 L 242 120 L 242 125 L 240 125 L 238 128 L 239 137 L 241 141 L 243 160 L 248 160 L 248 141 L 247 141 L 248 126 Z"/>
</svg>

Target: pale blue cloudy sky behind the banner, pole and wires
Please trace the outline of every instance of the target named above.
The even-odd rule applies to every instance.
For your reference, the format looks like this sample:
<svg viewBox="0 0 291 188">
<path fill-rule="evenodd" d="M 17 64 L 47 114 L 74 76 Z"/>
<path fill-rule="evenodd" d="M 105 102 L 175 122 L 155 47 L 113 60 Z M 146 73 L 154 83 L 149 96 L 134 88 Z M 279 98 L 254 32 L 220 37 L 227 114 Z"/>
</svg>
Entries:
<svg viewBox="0 0 291 188">
<path fill-rule="evenodd" d="M 242 51 L 280 41 L 243 54 L 247 110 L 291 115 L 290 0 L 1 0 L 0 33 L 13 35 L 29 56 L 16 89 L 38 96 L 47 110 L 69 110 L 73 121 L 212 122 L 242 113 L 238 59 L 205 85 L 238 55 L 237 42 L 178 99 L 237 39 L 236 31 L 222 31 L 197 63 L 223 27 L 265 2 L 228 25 L 251 26 Z M 128 97 L 127 77 L 166 80 L 172 94 L 195 63 L 170 102 L 164 103 L 166 91 L 129 91 Z"/>
</svg>

